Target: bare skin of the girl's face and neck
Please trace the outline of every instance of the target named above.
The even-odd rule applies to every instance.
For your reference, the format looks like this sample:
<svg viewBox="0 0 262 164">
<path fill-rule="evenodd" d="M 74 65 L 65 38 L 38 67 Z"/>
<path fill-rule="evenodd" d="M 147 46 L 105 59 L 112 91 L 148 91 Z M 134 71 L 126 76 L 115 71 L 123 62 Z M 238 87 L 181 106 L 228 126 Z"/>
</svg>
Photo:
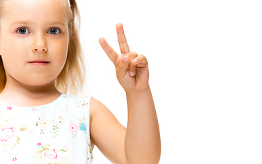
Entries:
<svg viewBox="0 0 262 164">
<path fill-rule="evenodd" d="M 43 105 L 55 100 L 60 92 L 55 89 L 54 81 L 64 67 L 68 50 L 66 10 L 51 5 L 51 0 L 5 2 L 8 3 L 8 11 L 1 17 L 0 54 L 7 84 L 0 95 L 1 100 L 23 107 Z M 18 20 L 31 23 L 12 25 Z M 18 33 L 21 27 L 26 27 L 26 34 Z M 52 35 L 50 29 L 53 27 L 62 29 L 62 32 Z M 44 67 L 28 64 L 28 61 L 35 59 L 46 59 L 50 63 Z M 12 101 L 12 98 L 16 101 Z"/>
</svg>

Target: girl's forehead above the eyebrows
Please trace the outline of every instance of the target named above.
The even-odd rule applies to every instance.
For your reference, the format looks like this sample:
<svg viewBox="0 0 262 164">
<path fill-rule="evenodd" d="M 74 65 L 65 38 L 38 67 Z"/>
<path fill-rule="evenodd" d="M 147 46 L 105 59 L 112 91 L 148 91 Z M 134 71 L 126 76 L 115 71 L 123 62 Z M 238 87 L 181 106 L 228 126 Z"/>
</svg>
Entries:
<svg viewBox="0 0 262 164">
<path fill-rule="evenodd" d="M 48 23 L 58 20 L 68 23 L 67 5 L 66 0 L 5 0 L 1 20 L 5 20 L 5 23 Z"/>
</svg>

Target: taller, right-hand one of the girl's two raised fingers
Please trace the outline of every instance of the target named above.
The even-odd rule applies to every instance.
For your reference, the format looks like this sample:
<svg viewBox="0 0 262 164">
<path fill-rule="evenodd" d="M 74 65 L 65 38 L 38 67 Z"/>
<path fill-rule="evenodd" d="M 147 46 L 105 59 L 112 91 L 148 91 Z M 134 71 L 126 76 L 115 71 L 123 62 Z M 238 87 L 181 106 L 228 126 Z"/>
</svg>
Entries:
<svg viewBox="0 0 262 164">
<path fill-rule="evenodd" d="M 127 44 L 127 38 L 125 36 L 122 23 L 118 23 L 116 25 L 116 32 L 118 34 L 118 43 L 119 43 L 121 54 L 128 55 L 130 53 L 129 45 Z"/>
</svg>

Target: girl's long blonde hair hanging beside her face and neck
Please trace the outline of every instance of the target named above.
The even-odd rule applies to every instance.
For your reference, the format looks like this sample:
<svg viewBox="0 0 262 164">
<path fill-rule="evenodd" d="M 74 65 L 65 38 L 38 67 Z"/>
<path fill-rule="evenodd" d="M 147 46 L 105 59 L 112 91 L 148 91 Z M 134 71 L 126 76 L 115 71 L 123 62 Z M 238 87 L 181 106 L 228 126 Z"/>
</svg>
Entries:
<svg viewBox="0 0 262 164">
<path fill-rule="evenodd" d="M 4 0 L 6 1 L 6 0 Z M 61 0 L 59 0 L 61 1 Z M 62 5 L 68 11 L 69 44 L 66 64 L 55 79 L 55 87 L 64 94 L 81 96 L 86 85 L 86 68 L 84 65 L 83 51 L 79 40 L 80 14 L 75 0 L 62 0 Z M 4 13 L 3 0 L 0 2 L 0 16 Z M 5 68 L 0 56 L 0 93 L 6 84 Z"/>
</svg>

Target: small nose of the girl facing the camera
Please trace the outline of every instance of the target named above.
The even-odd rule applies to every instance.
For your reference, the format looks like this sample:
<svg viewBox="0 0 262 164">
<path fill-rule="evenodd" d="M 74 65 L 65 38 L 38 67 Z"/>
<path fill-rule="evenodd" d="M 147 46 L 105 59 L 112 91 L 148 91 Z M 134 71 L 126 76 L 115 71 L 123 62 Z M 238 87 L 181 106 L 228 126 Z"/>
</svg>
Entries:
<svg viewBox="0 0 262 164">
<path fill-rule="evenodd" d="M 34 43 L 31 47 L 31 51 L 33 52 L 47 52 L 47 40 L 42 33 L 37 33 L 34 36 Z"/>
</svg>

